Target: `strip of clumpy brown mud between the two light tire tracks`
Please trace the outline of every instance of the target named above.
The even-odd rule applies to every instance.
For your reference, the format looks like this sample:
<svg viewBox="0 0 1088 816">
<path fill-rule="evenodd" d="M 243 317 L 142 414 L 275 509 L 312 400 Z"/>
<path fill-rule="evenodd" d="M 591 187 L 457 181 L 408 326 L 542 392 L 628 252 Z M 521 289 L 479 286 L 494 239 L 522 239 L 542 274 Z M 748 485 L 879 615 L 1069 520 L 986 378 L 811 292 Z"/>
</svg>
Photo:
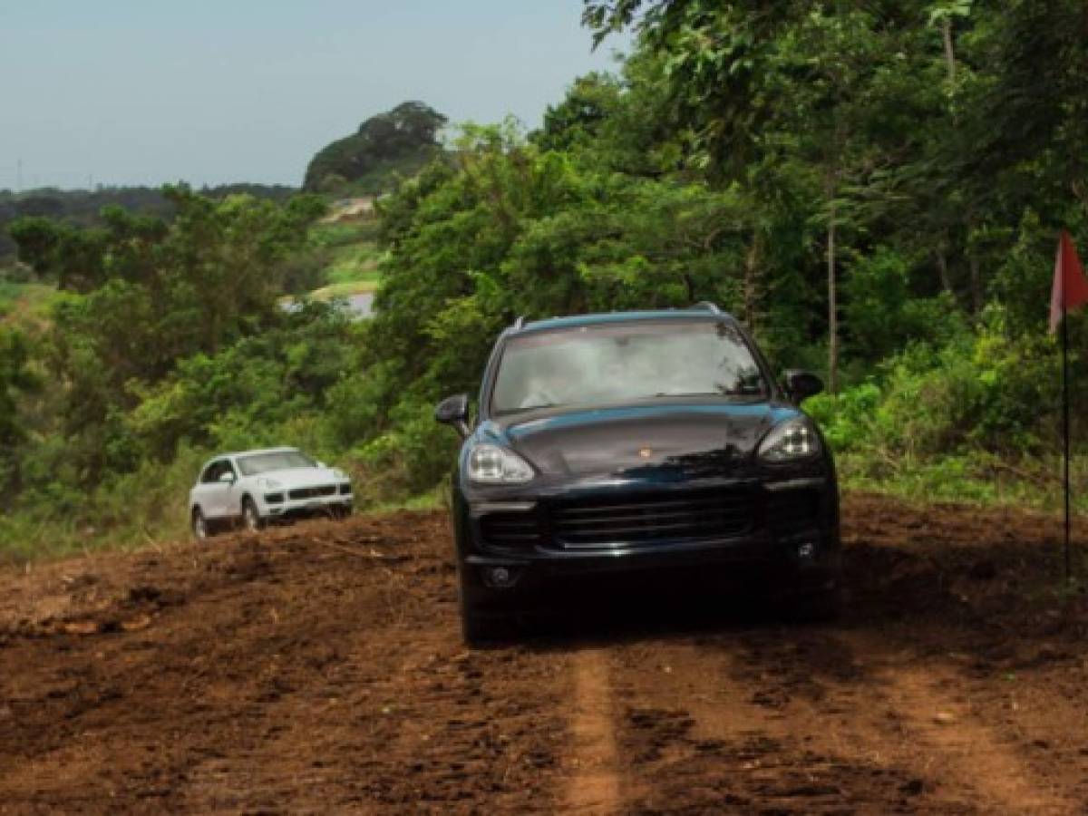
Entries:
<svg viewBox="0 0 1088 816">
<path fill-rule="evenodd" d="M 616 663 L 632 813 L 926 811 L 911 807 L 910 774 L 828 739 L 825 722 L 751 682 L 737 634 L 628 644 Z"/>
</svg>

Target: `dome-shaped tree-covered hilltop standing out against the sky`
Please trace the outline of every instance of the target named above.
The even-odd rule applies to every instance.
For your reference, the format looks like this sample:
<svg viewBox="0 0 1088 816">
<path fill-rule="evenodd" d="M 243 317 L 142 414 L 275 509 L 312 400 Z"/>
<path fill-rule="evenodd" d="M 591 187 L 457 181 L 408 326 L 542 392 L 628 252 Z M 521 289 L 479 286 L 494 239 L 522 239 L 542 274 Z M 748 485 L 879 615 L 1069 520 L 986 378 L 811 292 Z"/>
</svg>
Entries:
<svg viewBox="0 0 1088 816">
<path fill-rule="evenodd" d="M 337 196 L 385 193 L 442 149 L 438 132 L 445 124 L 446 118 L 423 102 L 401 102 L 319 150 L 302 187 Z"/>
</svg>

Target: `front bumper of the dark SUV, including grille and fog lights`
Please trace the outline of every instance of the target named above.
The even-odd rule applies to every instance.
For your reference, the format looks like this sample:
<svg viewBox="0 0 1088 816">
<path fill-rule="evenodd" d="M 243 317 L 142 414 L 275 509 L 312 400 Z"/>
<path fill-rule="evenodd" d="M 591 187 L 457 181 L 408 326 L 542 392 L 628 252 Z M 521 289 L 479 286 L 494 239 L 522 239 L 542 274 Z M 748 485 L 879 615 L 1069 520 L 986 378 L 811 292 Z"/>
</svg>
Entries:
<svg viewBox="0 0 1088 816">
<path fill-rule="evenodd" d="M 833 479 L 722 480 L 455 503 L 466 602 L 551 606 L 558 586 L 694 576 L 761 594 L 830 589 Z M 643 581 L 644 582 L 644 581 Z"/>
</svg>

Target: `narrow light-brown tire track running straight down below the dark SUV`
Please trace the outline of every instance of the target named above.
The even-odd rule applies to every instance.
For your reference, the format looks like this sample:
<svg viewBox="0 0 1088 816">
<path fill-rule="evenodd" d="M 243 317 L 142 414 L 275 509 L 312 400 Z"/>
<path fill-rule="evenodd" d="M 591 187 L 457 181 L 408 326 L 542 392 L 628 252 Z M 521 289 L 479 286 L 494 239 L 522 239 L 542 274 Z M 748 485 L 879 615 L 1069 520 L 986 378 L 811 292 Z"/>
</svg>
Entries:
<svg viewBox="0 0 1088 816">
<path fill-rule="evenodd" d="M 573 655 L 573 762 L 566 806 L 571 813 L 619 813 L 621 799 L 613 730 L 608 652 L 580 648 Z"/>
</svg>

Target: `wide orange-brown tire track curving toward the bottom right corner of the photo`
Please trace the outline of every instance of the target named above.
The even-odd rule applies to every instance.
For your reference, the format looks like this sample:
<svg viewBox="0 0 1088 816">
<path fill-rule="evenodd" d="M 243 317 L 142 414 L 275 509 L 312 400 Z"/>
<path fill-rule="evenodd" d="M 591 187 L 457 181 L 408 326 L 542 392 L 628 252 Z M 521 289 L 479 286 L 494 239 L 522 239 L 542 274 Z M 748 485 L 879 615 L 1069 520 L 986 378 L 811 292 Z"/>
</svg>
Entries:
<svg viewBox="0 0 1088 816">
<path fill-rule="evenodd" d="M 966 703 L 966 678 L 940 658 L 888 632 L 802 628 L 743 642 L 742 676 L 770 680 L 753 701 L 788 713 L 821 750 L 905 775 L 912 811 L 1079 812 L 1033 781 Z"/>
</svg>

